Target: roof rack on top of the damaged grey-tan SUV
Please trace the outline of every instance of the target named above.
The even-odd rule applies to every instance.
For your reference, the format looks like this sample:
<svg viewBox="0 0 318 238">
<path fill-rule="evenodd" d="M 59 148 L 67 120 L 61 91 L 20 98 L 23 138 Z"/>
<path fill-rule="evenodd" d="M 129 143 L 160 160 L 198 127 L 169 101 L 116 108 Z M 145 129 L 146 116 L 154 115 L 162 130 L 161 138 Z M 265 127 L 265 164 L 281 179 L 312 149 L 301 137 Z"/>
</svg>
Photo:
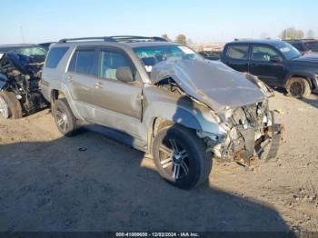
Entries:
<svg viewBox="0 0 318 238">
<path fill-rule="evenodd" d="M 146 36 L 136 36 L 136 35 L 114 35 L 114 36 L 103 36 L 103 37 L 81 37 L 81 38 L 67 38 L 61 39 L 58 43 L 67 43 L 74 41 L 90 41 L 90 40 L 102 40 L 105 42 L 144 42 L 144 41 L 159 41 L 167 42 L 163 37 L 146 37 Z"/>
</svg>

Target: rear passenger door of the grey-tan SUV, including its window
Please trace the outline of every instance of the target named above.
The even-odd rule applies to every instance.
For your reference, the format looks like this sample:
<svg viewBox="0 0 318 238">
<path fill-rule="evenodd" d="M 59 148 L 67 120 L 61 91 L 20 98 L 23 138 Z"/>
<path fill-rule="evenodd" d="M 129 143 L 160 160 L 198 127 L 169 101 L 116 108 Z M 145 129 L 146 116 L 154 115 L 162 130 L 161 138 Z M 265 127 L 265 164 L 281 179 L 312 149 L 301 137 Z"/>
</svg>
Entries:
<svg viewBox="0 0 318 238">
<path fill-rule="evenodd" d="M 97 77 L 97 50 L 78 47 L 69 64 L 65 81 L 71 84 L 71 94 L 78 113 L 87 121 L 94 115 L 94 78 Z"/>
</svg>

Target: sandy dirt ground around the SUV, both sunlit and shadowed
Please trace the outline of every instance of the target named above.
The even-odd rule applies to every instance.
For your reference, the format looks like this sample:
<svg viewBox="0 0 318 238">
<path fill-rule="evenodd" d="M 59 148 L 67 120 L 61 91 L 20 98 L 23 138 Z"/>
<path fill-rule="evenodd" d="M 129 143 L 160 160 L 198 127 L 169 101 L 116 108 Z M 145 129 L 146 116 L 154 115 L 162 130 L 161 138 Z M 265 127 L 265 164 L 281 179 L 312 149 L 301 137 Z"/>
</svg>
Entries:
<svg viewBox="0 0 318 238">
<path fill-rule="evenodd" d="M 62 137 L 48 110 L 0 121 L 0 230 L 318 232 L 318 97 L 277 94 L 271 106 L 284 111 L 277 159 L 253 170 L 215 162 L 192 191 L 103 135 Z"/>
</svg>

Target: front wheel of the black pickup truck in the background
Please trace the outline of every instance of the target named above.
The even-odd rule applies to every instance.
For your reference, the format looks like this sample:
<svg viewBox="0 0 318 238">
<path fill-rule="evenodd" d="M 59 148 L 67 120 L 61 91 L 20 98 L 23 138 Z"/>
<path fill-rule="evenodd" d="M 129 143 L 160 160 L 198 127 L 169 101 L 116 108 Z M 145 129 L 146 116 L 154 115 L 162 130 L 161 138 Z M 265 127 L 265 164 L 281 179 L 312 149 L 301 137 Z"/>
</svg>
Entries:
<svg viewBox="0 0 318 238">
<path fill-rule="evenodd" d="M 309 82 L 304 78 L 293 77 L 286 86 L 288 95 L 295 98 L 302 98 L 312 94 Z"/>
</svg>

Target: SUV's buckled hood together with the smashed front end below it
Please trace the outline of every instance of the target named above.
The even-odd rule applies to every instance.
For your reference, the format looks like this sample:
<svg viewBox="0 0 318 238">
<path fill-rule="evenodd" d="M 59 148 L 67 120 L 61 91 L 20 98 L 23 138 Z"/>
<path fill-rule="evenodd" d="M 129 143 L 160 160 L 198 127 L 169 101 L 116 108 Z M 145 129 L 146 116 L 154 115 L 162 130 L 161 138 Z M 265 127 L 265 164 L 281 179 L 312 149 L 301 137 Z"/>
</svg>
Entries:
<svg viewBox="0 0 318 238">
<path fill-rule="evenodd" d="M 194 118 L 200 126 L 194 129 L 215 157 L 249 164 L 254 157 L 261 157 L 258 152 L 263 142 L 271 143 L 273 138 L 268 132 L 273 131 L 273 124 L 268 97 L 273 91 L 257 77 L 238 73 L 222 63 L 200 60 L 156 64 L 151 75 L 154 84 L 169 85 L 165 89 L 192 101 L 185 106 L 192 108 L 190 114 L 200 105 L 204 114 L 214 115 L 211 124 L 210 118 L 200 118 L 202 113 L 196 112 Z"/>
</svg>

